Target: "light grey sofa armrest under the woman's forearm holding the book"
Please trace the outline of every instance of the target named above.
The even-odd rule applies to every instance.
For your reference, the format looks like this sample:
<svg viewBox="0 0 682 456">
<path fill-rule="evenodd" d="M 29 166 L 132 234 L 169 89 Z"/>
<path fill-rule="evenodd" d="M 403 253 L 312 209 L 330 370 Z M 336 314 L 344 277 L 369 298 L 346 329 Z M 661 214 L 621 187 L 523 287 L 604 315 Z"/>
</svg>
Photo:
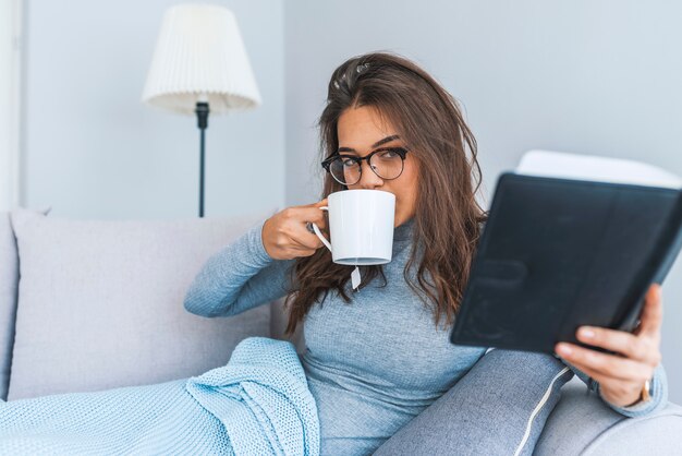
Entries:
<svg viewBox="0 0 682 456">
<path fill-rule="evenodd" d="M 561 389 L 534 455 L 672 455 L 679 454 L 680 435 L 682 407 L 668 403 L 645 417 L 626 418 L 574 377 Z"/>
</svg>

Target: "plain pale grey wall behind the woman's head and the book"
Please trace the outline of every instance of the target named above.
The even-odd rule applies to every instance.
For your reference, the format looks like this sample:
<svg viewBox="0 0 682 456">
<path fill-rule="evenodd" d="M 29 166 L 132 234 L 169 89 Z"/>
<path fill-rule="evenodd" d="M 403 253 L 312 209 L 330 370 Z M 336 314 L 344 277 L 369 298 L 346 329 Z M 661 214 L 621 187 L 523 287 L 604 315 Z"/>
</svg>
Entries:
<svg viewBox="0 0 682 456">
<path fill-rule="evenodd" d="M 317 132 L 332 70 L 393 50 L 466 108 L 486 201 L 535 147 L 646 160 L 682 176 L 682 4 L 669 1 L 288 1 L 287 203 L 319 196 Z M 665 291 L 663 364 L 682 404 L 682 264 Z"/>
</svg>

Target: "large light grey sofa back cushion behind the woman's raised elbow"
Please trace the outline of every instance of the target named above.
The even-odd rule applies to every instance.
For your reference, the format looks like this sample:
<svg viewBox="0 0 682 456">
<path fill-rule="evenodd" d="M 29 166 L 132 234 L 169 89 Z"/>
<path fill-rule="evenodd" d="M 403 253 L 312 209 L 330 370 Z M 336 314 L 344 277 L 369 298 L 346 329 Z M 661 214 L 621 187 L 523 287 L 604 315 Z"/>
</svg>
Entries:
<svg viewBox="0 0 682 456">
<path fill-rule="evenodd" d="M 227 363 L 268 336 L 270 307 L 206 319 L 183 298 L 204 262 L 269 216 L 74 220 L 19 208 L 19 308 L 9 400 L 159 383 Z"/>
</svg>

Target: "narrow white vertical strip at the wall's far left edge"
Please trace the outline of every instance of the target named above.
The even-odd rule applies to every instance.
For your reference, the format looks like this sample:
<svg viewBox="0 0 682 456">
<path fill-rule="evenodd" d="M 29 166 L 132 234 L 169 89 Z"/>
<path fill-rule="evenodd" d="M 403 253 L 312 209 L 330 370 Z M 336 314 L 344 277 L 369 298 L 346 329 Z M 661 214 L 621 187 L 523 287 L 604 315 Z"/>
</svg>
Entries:
<svg viewBox="0 0 682 456">
<path fill-rule="evenodd" d="M 0 0 L 0 211 L 20 204 L 22 0 Z"/>
</svg>

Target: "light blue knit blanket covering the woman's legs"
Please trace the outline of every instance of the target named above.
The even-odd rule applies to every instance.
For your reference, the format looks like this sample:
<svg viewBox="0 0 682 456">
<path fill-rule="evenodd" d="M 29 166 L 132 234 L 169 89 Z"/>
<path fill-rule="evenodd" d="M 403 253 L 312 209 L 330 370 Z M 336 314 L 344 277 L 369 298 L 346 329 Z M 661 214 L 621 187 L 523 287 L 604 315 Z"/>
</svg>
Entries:
<svg viewBox="0 0 682 456">
<path fill-rule="evenodd" d="M 0 401 L 0 454 L 318 455 L 319 421 L 293 345 L 251 337 L 199 376 Z"/>
</svg>

